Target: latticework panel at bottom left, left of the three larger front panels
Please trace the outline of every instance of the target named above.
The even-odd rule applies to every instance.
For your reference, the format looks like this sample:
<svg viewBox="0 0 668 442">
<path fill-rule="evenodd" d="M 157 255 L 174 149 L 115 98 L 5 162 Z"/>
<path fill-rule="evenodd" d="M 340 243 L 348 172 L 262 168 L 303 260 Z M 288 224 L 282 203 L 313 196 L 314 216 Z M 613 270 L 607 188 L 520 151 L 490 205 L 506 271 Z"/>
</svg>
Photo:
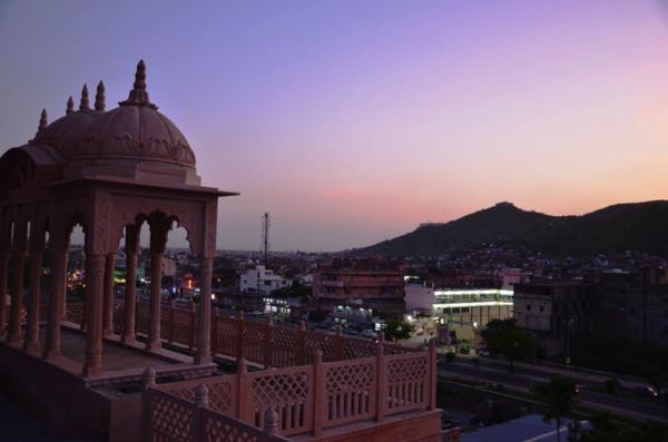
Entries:
<svg viewBox="0 0 668 442">
<path fill-rule="evenodd" d="M 189 442 L 195 404 L 168 393 L 150 391 L 150 441 Z"/>
</svg>

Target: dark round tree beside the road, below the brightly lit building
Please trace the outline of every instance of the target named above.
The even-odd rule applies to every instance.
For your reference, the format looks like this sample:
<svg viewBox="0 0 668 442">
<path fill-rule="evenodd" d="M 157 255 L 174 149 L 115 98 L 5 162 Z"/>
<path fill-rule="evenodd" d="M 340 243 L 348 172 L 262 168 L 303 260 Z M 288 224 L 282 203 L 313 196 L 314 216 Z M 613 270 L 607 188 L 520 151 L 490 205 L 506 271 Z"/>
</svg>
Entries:
<svg viewBox="0 0 668 442">
<path fill-rule="evenodd" d="M 510 362 L 510 372 L 514 372 L 514 361 L 524 360 L 534 354 L 531 336 L 518 327 L 514 320 L 493 320 L 481 332 L 487 350 L 502 354 Z"/>
</svg>

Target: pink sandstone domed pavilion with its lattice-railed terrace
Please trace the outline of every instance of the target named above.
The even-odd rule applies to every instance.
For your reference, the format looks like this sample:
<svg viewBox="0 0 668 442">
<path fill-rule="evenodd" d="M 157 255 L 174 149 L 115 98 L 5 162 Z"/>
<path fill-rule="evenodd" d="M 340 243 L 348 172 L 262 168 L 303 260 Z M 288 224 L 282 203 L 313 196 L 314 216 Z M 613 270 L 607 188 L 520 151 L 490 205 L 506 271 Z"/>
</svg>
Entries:
<svg viewBox="0 0 668 442">
<path fill-rule="evenodd" d="M 85 87 L 79 110 L 70 98 L 52 124 L 42 112 L 35 138 L 4 153 L 0 170 L 0 299 L 11 299 L 0 305 L 0 390 L 57 432 L 109 442 L 441 440 L 433 345 L 415 352 L 213 311 L 217 204 L 236 194 L 200 185 L 188 141 L 149 101 L 144 61 L 119 107 L 106 110 L 100 82 L 90 108 Z M 175 220 L 200 281 L 199 302 L 184 308 L 161 303 Z M 150 297 L 128 284 L 117 304 L 118 244 L 135 281 L 144 223 Z M 76 224 L 82 302 L 65 296 Z"/>
</svg>

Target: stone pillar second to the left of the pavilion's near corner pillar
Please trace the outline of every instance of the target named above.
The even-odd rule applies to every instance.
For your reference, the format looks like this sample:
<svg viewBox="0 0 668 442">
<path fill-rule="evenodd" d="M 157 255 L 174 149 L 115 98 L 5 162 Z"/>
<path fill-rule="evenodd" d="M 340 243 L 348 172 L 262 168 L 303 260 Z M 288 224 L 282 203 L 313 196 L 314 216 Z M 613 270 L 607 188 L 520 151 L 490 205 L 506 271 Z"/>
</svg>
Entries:
<svg viewBox="0 0 668 442">
<path fill-rule="evenodd" d="M 30 293 L 28 295 L 28 320 L 23 348 L 38 352 L 39 346 L 39 302 L 41 294 L 41 269 L 45 256 L 45 230 L 37 220 L 30 233 Z"/>
</svg>

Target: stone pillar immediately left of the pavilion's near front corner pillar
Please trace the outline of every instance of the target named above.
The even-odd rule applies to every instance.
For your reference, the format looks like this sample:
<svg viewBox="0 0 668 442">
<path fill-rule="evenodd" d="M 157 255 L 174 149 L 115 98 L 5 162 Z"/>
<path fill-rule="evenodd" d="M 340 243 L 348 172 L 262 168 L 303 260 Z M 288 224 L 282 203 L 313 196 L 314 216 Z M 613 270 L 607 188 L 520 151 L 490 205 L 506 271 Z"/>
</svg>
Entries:
<svg viewBox="0 0 668 442">
<path fill-rule="evenodd" d="M 62 299 L 65 297 L 65 273 L 67 252 L 63 232 L 51 228 L 49 232 L 49 261 L 51 267 L 51 296 L 49 299 L 49 323 L 47 325 L 47 345 L 45 358 L 60 356 L 60 322 L 62 321 Z M 69 235 L 69 233 L 68 233 Z"/>
</svg>

